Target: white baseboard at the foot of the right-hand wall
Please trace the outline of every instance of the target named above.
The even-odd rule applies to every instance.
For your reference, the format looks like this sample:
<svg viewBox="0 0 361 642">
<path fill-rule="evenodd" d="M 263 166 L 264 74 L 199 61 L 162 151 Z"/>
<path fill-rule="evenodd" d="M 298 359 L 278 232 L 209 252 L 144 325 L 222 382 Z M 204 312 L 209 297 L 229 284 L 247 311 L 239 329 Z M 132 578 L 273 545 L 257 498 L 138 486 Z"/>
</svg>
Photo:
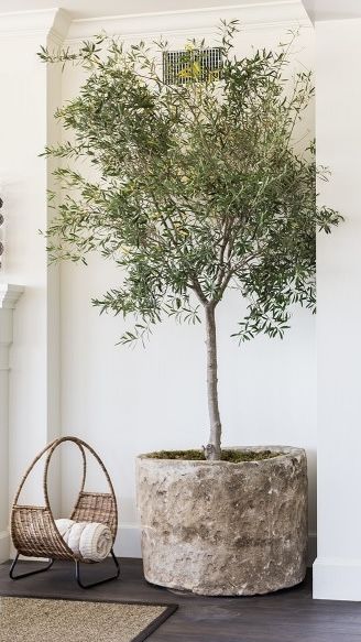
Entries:
<svg viewBox="0 0 361 642">
<path fill-rule="evenodd" d="M 317 557 L 314 599 L 361 601 L 361 558 Z"/>
</svg>

